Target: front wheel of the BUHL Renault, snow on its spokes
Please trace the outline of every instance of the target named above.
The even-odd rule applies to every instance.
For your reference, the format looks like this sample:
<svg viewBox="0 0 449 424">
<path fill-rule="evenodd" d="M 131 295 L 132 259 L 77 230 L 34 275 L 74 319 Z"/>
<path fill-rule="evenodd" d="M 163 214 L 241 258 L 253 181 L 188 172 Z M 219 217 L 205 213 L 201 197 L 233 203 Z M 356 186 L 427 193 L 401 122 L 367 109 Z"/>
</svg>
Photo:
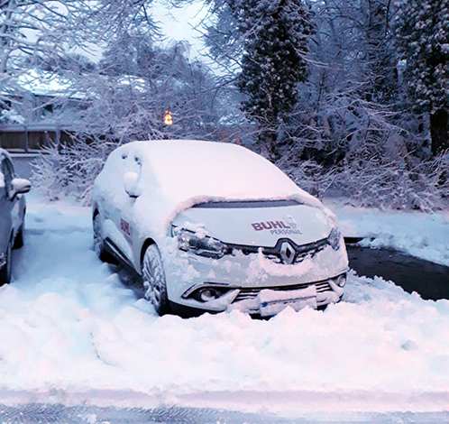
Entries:
<svg viewBox="0 0 449 424">
<path fill-rule="evenodd" d="M 148 246 L 143 255 L 142 280 L 145 288 L 145 299 L 151 302 L 158 315 L 162 316 L 169 313 L 167 281 L 165 280 L 160 251 L 156 244 Z"/>
</svg>

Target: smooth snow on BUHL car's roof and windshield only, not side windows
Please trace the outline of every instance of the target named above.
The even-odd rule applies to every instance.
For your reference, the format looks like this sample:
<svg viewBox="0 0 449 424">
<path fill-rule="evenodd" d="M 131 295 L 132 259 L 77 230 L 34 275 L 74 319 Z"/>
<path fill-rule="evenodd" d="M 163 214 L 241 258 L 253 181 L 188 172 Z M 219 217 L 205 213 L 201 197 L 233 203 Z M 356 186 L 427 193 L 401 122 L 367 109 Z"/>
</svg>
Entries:
<svg viewBox="0 0 449 424">
<path fill-rule="evenodd" d="M 124 145 L 151 168 L 163 193 L 177 200 L 292 198 L 316 203 L 259 154 L 232 143 L 162 140 Z M 298 198 L 299 199 L 299 198 Z"/>
</svg>

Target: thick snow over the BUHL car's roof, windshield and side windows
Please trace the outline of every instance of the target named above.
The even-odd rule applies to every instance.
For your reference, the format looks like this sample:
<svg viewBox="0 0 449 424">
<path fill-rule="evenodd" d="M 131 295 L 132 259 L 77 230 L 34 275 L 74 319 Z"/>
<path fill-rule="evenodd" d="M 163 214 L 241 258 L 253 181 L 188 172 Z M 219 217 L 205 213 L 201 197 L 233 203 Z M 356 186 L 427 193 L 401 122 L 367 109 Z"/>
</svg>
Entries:
<svg viewBox="0 0 449 424">
<path fill-rule="evenodd" d="M 289 177 L 259 154 L 232 143 L 196 140 L 158 140 L 127 143 L 111 153 L 119 166 L 140 172 L 142 195 L 136 202 L 143 215 L 167 229 L 181 212 L 211 201 L 295 199 L 313 207 L 321 202 L 299 189 Z M 136 165 L 137 164 L 137 165 Z M 100 174 L 105 184 L 108 172 Z M 140 170 L 140 171 L 139 171 Z M 110 175 L 112 177 L 112 175 Z M 157 202 L 153 200 L 157 199 Z M 151 202 L 151 203 L 149 203 Z M 155 210 L 157 209 L 157 210 Z"/>
</svg>

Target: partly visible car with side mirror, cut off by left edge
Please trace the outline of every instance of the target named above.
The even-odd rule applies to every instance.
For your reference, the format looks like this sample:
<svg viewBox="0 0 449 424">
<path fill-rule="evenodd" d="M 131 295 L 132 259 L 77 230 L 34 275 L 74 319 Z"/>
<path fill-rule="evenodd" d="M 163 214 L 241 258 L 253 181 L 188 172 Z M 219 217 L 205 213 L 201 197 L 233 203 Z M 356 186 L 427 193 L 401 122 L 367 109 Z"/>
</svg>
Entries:
<svg viewBox="0 0 449 424">
<path fill-rule="evenodd" d="M 0 285 L 11 281 L 13 249 L 23 246 L 25 225 L 24 193 L 29 180 L 16 178 L 9 153 L 0 149 Z"/>
</svg>

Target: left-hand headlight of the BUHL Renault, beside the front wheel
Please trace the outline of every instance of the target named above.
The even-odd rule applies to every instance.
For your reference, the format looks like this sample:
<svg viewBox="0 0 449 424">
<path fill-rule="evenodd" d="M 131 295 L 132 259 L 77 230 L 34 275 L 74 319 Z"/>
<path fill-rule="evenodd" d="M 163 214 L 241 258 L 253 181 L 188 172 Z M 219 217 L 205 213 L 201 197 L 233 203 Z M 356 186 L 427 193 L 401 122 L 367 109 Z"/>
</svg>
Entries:
<svg viewBox="0 0 449 424">
<path fill-rule="evenodd" d="M 204 235 L 199 237 L 193 231 L 184 228 L 174 228 L 174 235 L 178 238 L 179 250 L 188 253 L 194 253 L 206 258 L 220 259 L 228 251 L 228 246 L 220 240 Z"/>
</svg>

